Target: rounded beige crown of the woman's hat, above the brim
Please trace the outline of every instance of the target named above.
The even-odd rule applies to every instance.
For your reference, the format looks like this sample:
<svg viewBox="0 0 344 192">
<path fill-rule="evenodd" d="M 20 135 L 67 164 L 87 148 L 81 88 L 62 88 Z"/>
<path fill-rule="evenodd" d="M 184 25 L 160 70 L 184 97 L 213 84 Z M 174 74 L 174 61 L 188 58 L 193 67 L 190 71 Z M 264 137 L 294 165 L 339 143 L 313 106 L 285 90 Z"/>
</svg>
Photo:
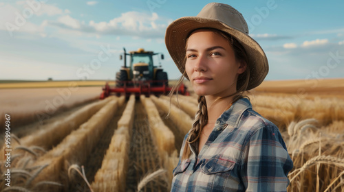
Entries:
<svg viewBox="0 0 344 192">
<path fill-rule="evenodd" d="M 222 3 L 208 3 L 200 13 L 197 14 L 197 17 L 215 19 L 229 27 L 243 32 L 244 34 L 248 34 L 248 26 L 244 17 L 230 5 Z"/>
</svg>

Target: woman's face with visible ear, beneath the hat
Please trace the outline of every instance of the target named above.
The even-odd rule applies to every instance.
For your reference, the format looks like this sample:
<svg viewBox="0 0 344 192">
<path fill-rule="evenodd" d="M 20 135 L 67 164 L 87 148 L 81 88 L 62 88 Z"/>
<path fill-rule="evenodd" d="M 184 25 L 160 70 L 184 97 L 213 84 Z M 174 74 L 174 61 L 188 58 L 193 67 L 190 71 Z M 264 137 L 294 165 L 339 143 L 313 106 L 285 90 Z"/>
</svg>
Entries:
<svg viewBox="0 0 344 192">
<path fill-rule="evenodd" d="M 237 91 L 237 77 L 246 64 L 235 59 L 228 40 L 207 29 L 191 34 L 186 45 L 185 71 L 197 95 L 225 97 Z"/>
</svg>

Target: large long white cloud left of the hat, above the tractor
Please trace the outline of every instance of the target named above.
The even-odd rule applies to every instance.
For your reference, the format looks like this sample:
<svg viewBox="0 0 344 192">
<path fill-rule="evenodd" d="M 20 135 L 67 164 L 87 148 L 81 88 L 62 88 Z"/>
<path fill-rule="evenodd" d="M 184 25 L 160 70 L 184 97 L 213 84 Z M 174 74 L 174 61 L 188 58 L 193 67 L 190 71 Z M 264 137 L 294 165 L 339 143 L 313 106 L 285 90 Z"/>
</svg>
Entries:
<svg viewBox="0 0 344 192">
<path fill-rule="evenodd" d="M 158 14 L 143 12 L 125 12 L 110 21 L 89 21 L 72 18 L 72 16 L 60 16 L 57 21 L 49 21 L 49 25 L 69 33 L 91 34 L 94 36 L 136 36 L 138 38 L 163 38 L 166 30 L 166 20 L 160 19 Z"/>
</svg>

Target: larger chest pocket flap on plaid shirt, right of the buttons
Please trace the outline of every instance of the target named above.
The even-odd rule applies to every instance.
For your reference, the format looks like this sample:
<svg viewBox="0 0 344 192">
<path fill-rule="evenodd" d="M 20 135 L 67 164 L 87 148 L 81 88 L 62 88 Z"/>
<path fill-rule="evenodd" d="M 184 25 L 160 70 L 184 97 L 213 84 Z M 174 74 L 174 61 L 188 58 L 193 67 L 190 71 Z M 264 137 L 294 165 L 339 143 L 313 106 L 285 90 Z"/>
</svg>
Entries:
<svg viewBox="0 0 344 192">
<path fill-rule="evenodd" d="M 215 174 L 215 173 L 226 173 L 230 174 L 233 170 L 235 162 L 222 157 L 214 157 L 206 160 L 205 163 L 201 165 L 201 169 L 205 174 Z"/>
</svg>

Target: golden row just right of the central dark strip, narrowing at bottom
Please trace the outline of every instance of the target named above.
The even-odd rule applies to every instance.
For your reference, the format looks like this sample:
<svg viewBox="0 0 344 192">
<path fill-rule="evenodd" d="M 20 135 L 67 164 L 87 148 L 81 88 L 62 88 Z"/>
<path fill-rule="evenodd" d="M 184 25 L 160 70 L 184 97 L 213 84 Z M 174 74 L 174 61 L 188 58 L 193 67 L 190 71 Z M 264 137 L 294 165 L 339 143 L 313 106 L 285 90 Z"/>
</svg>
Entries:
<svg viewBox="0 0 344 192">
<path fill-rule="evenodd" d="M 171 130 L 164 124 L 160 118 L 158 109 L 155 107 L 153 101 L 150 98 L 140 97 L 144 108 L 146 108 L 149 125 L 153 134 L 153 141 L 155 146 L 158 146 L 158 153 L 162 160 L 164 169 L 168 172 L 166 177 L 168 178 L 168 191 L 171 189 L 172 174 L 171 172 L 178 164 L 178 152 L 175 149 L 175 136 Z"/>
</svg>

